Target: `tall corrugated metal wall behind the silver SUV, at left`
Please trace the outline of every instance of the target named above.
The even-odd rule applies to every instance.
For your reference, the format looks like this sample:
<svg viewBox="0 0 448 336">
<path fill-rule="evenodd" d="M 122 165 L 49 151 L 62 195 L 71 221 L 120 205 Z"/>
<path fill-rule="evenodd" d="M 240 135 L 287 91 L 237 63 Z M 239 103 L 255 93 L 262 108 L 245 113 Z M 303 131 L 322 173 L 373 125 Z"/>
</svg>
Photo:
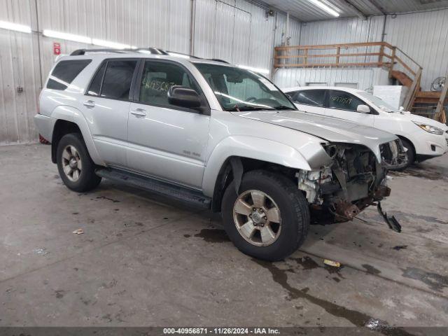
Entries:
<svg viewBox="0 0 448 336">
<path fill-rule="evenodd" d="M 33 29 L 0 29 L 0 145 L 37 141 L 33 116 L 55 60 L 52 43 L 63 54 L 93 47 L 45 37 L 43 29 L 270 69 L 286 15 L 266 9 L 245 0 L 0 0 L 0 20 Z M 298 43 L 300 23 L 290 18 L 290 27 L 290 43 Z"/>
</svg>

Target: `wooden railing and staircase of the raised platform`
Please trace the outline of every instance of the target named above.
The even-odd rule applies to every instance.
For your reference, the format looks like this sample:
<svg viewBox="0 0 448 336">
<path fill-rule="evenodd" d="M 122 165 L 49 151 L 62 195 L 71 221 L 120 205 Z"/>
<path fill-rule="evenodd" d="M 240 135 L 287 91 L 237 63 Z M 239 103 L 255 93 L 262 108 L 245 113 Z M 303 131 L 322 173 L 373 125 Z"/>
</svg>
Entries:
<svg viewBox="0 0 448 336">
<path fill-rule="evenodd" d="M 405 111 L 447 123 L 444 106 L 448 85 L 444 86 L 442 92 L 422 91 L 421 66 L 400 48 L 389 43 L 283 45 L 274 48 L 274 69 L 357 66 L 388 69 L 389 78 L 407 87 L 403 102 Z"/>
</svg>

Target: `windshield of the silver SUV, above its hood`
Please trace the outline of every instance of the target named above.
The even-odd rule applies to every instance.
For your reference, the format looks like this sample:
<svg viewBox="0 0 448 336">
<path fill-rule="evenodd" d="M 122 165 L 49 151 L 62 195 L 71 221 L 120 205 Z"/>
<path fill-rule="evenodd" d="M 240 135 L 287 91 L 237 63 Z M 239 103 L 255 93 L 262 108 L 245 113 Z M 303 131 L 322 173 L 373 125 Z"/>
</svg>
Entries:
<svg viewBox="0 0 448 336">
<path fill-rule="evenodd" d="M 295 110 L 283 92 L 252 71 L 216 64 L 195 63 L 224 111 Z"/>
</svg>

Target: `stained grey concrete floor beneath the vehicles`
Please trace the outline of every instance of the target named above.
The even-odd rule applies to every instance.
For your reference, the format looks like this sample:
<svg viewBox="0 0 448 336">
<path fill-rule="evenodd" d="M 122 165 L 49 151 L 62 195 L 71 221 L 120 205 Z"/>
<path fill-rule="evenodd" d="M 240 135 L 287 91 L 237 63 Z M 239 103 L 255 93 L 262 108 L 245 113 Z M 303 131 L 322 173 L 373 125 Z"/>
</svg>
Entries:
<svg viewBox="0 0 448 336">
<path fill-rule="evenodd" d="M 73 193 L 50 146 L 0 147 L 0 325 L 448 326 L 448 155 L 392 176 L 402 233 L 367 209 L 268 263 L 208 211 L 109 181 Z"/>
</svg>

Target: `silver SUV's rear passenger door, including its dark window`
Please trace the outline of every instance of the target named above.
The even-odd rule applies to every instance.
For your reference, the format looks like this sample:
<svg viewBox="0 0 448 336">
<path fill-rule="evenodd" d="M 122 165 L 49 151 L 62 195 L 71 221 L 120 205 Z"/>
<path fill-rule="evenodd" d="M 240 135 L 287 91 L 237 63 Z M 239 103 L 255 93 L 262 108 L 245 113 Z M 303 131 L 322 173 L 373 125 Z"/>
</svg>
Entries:
<svg viewBox="0 0 448 336">
<path fill-rule="evenodd" d="M 138 59 L 106 59 L 83 97 L 94 144 L 108 165 L 126 167 L 127 118 Z"/>
</svg>

